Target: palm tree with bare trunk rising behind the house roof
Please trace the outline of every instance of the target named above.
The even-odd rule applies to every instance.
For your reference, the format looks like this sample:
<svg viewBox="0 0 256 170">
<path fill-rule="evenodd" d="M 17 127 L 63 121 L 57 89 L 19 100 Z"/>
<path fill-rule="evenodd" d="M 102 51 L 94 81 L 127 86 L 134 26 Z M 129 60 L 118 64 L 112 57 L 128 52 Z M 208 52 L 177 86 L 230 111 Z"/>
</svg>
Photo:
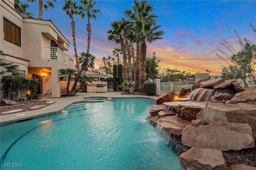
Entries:
<svg viewBox="0 0 256 170">
<path fill-rule="evenodd" d="M 56 0 L 27 0 L 27 2 L 31 2 L 32 4 L 37 4 L 37 1 L 39 1 L 38 19 L 42 20 L 43 8 L 46 12 L 48 12 L 49 8 L 54 9 L 54 2 Z"/>
</svg>

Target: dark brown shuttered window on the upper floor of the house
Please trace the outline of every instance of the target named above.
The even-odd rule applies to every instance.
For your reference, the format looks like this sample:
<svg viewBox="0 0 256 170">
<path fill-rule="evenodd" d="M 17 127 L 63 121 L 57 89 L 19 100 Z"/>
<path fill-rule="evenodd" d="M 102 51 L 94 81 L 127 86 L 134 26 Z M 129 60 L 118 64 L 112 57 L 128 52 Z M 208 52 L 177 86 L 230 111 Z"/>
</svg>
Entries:
<svg viewBox="0 0 256 170">
<path fill-rule="evenodd" d="M 20 27 L 16 26 L 6 18 L 4 18 L 4 40 L 17 46 L 21 46 Z"/>
</svg>

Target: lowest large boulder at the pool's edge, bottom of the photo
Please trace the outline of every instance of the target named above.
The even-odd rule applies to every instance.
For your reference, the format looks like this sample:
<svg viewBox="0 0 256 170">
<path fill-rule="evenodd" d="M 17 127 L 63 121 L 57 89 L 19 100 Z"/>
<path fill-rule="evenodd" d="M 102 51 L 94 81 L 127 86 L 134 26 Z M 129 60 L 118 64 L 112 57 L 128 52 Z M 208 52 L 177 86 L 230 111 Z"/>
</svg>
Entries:
<svg viewBox="0 0 256 170">
<path fill-rule="evenodd" d="M 228 170 L 222 152 L 216 149 L 190 148 L 179 161 L 185 170 Z"/>
</svg>

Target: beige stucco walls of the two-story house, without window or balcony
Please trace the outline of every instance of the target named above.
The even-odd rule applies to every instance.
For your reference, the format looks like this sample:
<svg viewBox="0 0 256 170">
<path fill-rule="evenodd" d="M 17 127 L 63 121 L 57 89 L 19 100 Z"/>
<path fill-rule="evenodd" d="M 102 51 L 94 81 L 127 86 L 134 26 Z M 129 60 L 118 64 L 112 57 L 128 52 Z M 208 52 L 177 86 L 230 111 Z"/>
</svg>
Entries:
<svg viewBox="0 0 256 170">
<path fill-rule="evenodd" d="M 9 1 L 14 2 L 13 0 Z M 7 2 L 7 0 L 5 0 L 5 2 Z M 26 64 L 20 63 L 21 70 L 25 70 L 26 74 L 42 75 L 43 72 L 46 72 L 49 80 L 46 81 L 46 78 L 43 78 L 42 93 L 48 94 L 48 90 L 50 90 L 52 92 L 52 97 L 60 97 L 61 88 L 58 70 L 60 68 L 72 67 L 60 60 L 42 59 L 42 47 L 50 47 L 51 40 L 54 40 L 57 42 L 60 50 L 68 50 L 70 45 L 68 40 L 59 32 L 51 21 L 23 18 L 4 2 L 0 3 L 0 16 L 0 49 L 6 54 L 30 60 L 27 66 L 28 68 L 26 68 Z M 21 28 L 21 47 L 4 40 L 2 17 L 5 17 Z M 11 59 L 11 62 L 16 61 Z M 22 60 L 20 62 L 22 62 Z"/>
</svg>

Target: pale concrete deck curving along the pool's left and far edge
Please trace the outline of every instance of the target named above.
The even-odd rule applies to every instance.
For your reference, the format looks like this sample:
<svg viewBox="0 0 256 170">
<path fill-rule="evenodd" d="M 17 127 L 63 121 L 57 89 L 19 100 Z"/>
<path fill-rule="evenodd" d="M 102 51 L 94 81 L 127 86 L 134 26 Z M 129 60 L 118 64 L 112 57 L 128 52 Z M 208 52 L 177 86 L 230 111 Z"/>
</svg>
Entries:
<svg viewBox="0 0 256 170">
<path fill-rule="evenodd" d="M 105 92 L 105 93 L 77 93 L 76 96 L 72 97 L 60 97 L 52 98 L 51 94 L 43 95 L 41 100 L 47 100 L 55 102 L 49 106 L 41 108 L 39 110 L 32 110 L 28 112 L 13 113 L 0 116 L 0 125 L 6 126 L 14 124 L 23 120 L 36 119 L 46 116 L 51 116 L 60 113 L 62 108 L 66 108 L 74 103 L 85 101 L 83 98 L 88 97 L 106 97 L 106 98 L 148 98 L 156 100 L 157 96 L 141 96 L 141 95 L 121 95 L 121 92 Z"/>
</svg>

